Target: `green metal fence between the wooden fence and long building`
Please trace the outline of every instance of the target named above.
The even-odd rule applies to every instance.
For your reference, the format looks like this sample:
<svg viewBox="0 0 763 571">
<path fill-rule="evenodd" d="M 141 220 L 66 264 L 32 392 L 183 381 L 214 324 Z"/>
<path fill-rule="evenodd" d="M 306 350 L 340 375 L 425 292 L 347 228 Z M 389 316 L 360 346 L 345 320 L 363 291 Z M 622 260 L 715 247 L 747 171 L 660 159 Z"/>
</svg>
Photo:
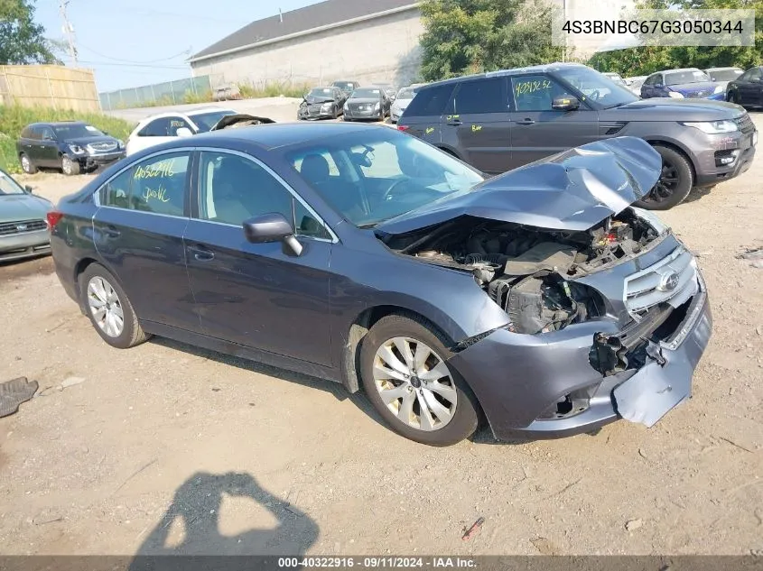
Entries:
<svg viewBox="0 0 763 571">
<path fill-rule="evenodd" d="M 108 91 L 99 93 L 98 97 L 100 97 L 100 104 L 104 111 L 111 111 L 130 107 L 194 103 L 195 99 L 205 97 L 211 91 L 209 76 L 200 76 Z"/>
</svg>

